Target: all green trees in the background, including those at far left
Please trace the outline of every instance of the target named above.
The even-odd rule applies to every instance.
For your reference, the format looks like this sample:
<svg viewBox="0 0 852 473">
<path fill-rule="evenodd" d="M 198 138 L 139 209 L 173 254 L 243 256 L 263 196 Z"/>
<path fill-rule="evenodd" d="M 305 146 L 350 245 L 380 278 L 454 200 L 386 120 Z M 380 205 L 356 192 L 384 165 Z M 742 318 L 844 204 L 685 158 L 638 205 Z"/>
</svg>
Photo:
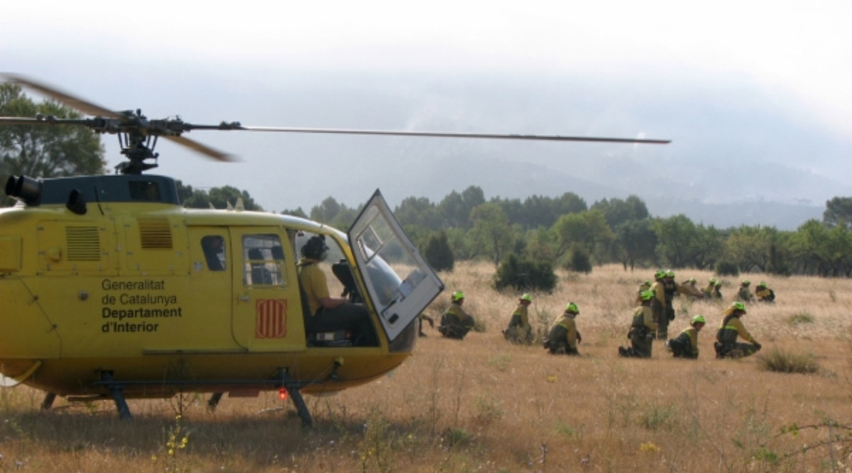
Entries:
<svg viewBox="0 0 852 473">
<path fill-rule="evenodd" d="M 17 84 L 0 84 L 0 116 L 37 113 L 78 118 L 55 101 L 36 103 Z M 49 125 L 0 127 L 0 177 L 14 174 L 56 177 L 107 172 L 100 136 L 79 127 Z M 178 182 L 183 205 L 225 208 L 242 199 L 246 210 L 262 211 L 245 190 L 193 188 Z M 9 205 L 7 199 L 3 205 Z M 360 208 L 328 197 L 308 213 L 283 211 L 336 228 L 348 228 Z M 559 197 L 485 199 L 480 187 L 453 191 L 439 202 L 408 197 L 394 210 L 406 233 L 429 262 L 452 269 L 458 260 L 486 259 L 512 266 L 515 273 L 546 272 L 548 266 L 591 271 L 618 262 L 639 268 L 710 269 L 717 274 L 852 275 L 852 197 L 826 202 L 821 221 L 811 219 L 795 231 L 774 227 L 715 228 L 685 215 L 651 216 L 642 199 L 602 199 L 587 205 L 575 193 Z M 508 273 L 511 273 L 509 271 Z"/>
</svg>

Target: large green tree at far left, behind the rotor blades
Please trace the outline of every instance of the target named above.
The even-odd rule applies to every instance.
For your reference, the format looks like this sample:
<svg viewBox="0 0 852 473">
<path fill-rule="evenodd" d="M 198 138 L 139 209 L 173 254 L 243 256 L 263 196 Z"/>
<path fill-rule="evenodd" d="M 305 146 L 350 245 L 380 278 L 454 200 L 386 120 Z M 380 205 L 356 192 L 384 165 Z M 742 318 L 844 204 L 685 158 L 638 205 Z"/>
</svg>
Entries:
<svg viewBox="0 0 852 473">
<path fill-rule="evenodd" d="M 17 84 L 0 84 L 0 116 L 80 118 L 71 107 L 55 101 L 33 102 Z M 61 177 L 103 174 L 107 162 L 100 137 L 83 126 L 0 126 L 0 177 L 12 175 Z"/>
</svg>

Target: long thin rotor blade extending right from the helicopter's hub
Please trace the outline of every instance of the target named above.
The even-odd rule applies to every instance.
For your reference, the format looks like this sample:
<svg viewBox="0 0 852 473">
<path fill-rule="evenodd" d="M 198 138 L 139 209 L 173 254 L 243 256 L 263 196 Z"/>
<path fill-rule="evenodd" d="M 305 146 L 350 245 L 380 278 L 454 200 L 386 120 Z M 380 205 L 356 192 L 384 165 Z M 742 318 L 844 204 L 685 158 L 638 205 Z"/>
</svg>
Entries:
<svg viewBox="0 0 852 473">
<path fill-rule="evenodd" d="M 394 130 L 345 130 L 333 128 L 281 128 L 271 126 L 220 126 L 220 130 L 271 131 L 282 133 L 325 133 L 334 135 L 378 135 L 378 136 L 428 136 L 443 138 L 485 138 L 495 140 L 539 140 L 539 141 L 597 141 L 612 143 L 643 143 L 665 145 L 671 140 L 647 140 L 639 138 L 602 138 L 596 136 L 559 135 L 501 135 L 495 133 L 450 133 L 442 131 L 394 131 Z"/>
</svg>

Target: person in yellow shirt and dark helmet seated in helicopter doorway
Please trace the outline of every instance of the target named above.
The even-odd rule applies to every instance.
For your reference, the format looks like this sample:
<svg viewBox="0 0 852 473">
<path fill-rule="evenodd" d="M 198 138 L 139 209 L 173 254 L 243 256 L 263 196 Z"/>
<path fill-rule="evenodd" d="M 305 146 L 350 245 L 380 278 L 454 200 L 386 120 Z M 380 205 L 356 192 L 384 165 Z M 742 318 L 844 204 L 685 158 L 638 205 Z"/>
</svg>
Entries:
<svg viewBox="0 0 852 473">
<path fill-rule="evenodd" d="M 377 346 L 376 331 L 370 314 L 363 304 L 350 303 L 343 297 L 331 297 L 328 281 L 320 269 L 320 262 L 328 257 L 324 235 L 314 235 L 302 245 L 302 258 L 296 264 L 299 285 L 304 291 L 310 314 L 305 332 L 308 337 L 321 332 L 348 331 L 357 346 Z"/>
</svg>

